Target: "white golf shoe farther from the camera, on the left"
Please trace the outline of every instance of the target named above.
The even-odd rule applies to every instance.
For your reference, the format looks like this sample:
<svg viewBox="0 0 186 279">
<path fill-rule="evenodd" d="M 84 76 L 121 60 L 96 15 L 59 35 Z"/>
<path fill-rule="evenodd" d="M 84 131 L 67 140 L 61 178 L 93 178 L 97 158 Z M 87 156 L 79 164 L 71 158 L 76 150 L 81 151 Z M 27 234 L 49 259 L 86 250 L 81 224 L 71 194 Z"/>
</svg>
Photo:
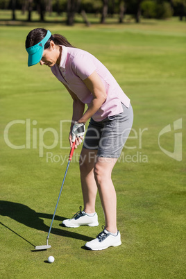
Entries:
<svg viewBox="0 0 186 279">
<path fill-rule="evenodd" d="M 78 211 L 72 219 L 66 219 L 62 221 L 62 226 L 67 228 L 78 228 L 79 226 L 90 226 L 95 227 L 98 226 L 98 215 L 96 212 L 93 216 L 89 216 L 85 211 Z"/>
</svg>

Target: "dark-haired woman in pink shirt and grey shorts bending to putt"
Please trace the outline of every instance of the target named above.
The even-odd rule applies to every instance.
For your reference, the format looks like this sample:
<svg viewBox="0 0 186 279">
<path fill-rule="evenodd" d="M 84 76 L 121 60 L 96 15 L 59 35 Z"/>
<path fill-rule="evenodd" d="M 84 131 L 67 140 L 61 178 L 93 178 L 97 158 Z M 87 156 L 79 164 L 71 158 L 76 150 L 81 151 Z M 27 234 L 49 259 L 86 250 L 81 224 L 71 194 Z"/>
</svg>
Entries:
<svg viewBox="0 0 186 279">
<path fill-rule="evenodd" d="M 72 219 L 64 220 L 62 225 L 69 228 L 98 226 L 95 212 L 98 189 L 105 227 L 85 247 L 96 251 L 119 246 L 121 235 L 117 230 L 117 198 L 111 174 L 133 124 L 130 99 L 99 60 L 87 51 L 71 46 L 62 35 L 51 35 L 50 31 L 36 28 L 26 37 L 26 51 L 28 66 L 38 62 L 47 65 L 71 94 L 70 146 L 74 141 L 75 148 L 81 144 L 85 123 L 90 119 L 80 156 L 84 209 Z"/>
</svg>

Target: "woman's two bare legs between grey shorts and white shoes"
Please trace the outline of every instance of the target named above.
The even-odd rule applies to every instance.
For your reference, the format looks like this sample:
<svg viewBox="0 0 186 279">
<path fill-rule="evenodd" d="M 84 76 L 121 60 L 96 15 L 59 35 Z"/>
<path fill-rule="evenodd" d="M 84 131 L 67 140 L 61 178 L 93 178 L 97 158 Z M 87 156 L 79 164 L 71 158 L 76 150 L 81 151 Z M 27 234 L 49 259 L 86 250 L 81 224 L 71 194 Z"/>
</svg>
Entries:
<svg viewBox="0 0 186 279">
<path fill-rule="evenodd" d="M 117 159 L 96 158 L 96 151 L 82 149 L 80 170 L 83 192 L 84 211 L 95 212 L 96 193 L 99 196 L 105 214 L 105 228 L 110 233 L 117 233 L 117 198 L 111 174 Z"/>
</svg>

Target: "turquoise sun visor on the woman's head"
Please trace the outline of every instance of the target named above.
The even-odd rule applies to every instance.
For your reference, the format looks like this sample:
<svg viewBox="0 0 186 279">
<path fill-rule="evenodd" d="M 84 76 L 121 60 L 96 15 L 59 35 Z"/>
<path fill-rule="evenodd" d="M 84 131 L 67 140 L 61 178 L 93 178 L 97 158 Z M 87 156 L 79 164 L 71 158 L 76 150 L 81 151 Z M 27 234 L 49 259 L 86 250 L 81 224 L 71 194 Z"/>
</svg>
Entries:
<svg viewBox="0 0 186 279">
<path fill-rule="evenodd" d="M 28 52 L 28 67 L 33 66 L 40 62 L 42 59 L 42 53 L 44 51 L 44 44 L 49 40 L 51 37 L 51 32 L 48 30 L 47 35 L 42 39 L 41 42 L 35 44 L 33 47 L 28 47 L 26 51 Z"/>
</svg>

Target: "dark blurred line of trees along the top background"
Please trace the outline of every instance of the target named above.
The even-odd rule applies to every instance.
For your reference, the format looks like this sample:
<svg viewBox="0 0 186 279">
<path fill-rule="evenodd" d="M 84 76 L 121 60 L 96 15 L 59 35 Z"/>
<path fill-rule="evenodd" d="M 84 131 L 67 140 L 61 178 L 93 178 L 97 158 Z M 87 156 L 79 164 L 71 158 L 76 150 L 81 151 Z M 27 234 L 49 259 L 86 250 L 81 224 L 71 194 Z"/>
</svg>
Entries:
<svg viewBox="0 0 186 279">
<path fill-rule="evenodd" d="M 12 20 L 16 20 L 16 10 L 28 12 L 28 22 L 32 21 L 32 12 L 37 10 L 40 21 L 44 22 L 46 12 L 67 14 L 67 25 L 74 24 L 76 13 L 82 15 L 85 24 L 90 25 L 87 13 L 100 15 L 104 24 L 108 16 L 118 15 L 118 22 L 123 23 L 126 14 L 133 15 L 135 22 L 140 18 L 164 19 L 177 15 L 180 20 L 185 17 L 186 0 L 0 0 L 1 9 L 12 10 Z"/>
</svg>

